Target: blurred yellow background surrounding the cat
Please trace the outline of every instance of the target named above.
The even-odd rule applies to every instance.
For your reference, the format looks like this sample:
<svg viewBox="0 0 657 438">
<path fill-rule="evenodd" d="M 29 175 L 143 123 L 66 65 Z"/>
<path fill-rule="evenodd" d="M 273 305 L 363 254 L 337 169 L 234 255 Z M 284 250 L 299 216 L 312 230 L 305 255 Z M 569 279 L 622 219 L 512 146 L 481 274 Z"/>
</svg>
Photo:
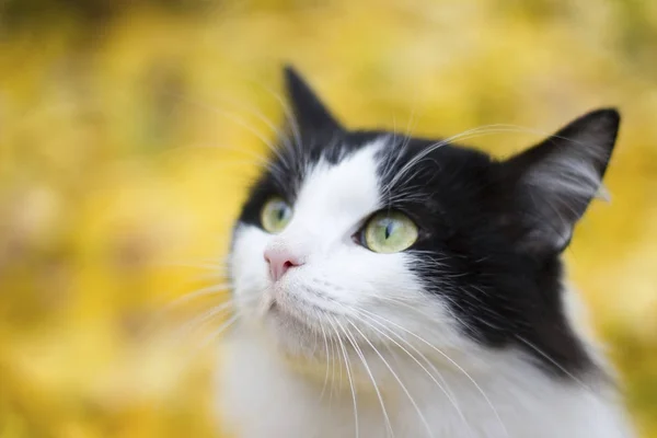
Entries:
<svg viewBox="0 0 657 438">
<path fill-rule="evenodd" d="M 212 436 L 216 348 L 151 322 L 226 299 L 289 61 L 348 126 L 527 128 L 470 140 L 498 155 L 620 107 L 567 258 L 657 437 L 656 54 L 650 0 L 1 0 L 0 436 Z"/>
</svg>

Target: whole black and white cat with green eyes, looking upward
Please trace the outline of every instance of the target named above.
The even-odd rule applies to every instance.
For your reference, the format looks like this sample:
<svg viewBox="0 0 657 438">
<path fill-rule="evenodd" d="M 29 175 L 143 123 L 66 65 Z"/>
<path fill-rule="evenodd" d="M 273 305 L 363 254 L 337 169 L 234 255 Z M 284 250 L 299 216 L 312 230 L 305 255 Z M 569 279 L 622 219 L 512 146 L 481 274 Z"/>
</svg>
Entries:
<svg viewBox="0 0 657 438">
<path fill-rule="evenodd" d="M 234 228 L 219 412 L 244 438 L 634 436 L 561 254 L 619 128 L 510 159 L 348 130 L 292 70 Z"/>
</svg>

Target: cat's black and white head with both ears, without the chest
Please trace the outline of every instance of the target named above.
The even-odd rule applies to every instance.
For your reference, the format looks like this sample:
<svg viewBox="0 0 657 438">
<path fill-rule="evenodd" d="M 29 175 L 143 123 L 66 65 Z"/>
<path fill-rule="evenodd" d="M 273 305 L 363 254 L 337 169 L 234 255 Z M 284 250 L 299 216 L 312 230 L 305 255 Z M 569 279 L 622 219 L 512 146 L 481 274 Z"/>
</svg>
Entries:
<svg viewBox="0 0 657 438">
<path fill-rule="evenodd" d="M 242 323 L 292 356 L 341 338 L 427 355 L 512 348 L 555 373 L 588 367 L 560 256 L 600 189 L 614 110 L 500 161 L 450 139 L 349 130 L 293 70 L 286 82 L 290 135 L 234 229 Z"/>
</svg>

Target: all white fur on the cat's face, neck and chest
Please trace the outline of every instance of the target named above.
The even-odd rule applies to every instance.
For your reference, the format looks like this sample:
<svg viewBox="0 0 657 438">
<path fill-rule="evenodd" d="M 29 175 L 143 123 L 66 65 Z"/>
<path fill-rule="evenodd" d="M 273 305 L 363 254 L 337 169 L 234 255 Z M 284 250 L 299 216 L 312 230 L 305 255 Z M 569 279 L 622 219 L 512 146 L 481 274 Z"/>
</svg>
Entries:
<svg viewBox="0 0 657 438">
<path fill-rule="evenodd" d="M 520 350 L 465 338 L 422 293 L 407 254 L 351 240 L 381 208 L 381 146 L 310 169 L 283 233 L 237 230 L 240 320 L 221 348 L 222 425 L 243 438 L 632 436 L 611 387 L 551 378 Z M 303 265 L 273 284 L 267 247 Z"/>
</svg>

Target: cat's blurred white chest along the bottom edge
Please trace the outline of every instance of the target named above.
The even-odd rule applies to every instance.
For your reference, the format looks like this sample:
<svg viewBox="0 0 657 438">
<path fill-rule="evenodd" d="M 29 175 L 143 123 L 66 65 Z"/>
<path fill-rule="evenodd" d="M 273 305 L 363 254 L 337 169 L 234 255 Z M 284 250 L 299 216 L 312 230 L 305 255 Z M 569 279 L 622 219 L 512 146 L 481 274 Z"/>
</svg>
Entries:
<svg viewBox="0 0 657 438">
<path fill-rule="evenodd" d="M 331 379 L 344 382 L 347 376 Z M 221 350 L 218 419 L 239 438 L 631 436 L 618 412 L 595 395 L 528 379 L 531 391 L 483 380 L 406 381 L 408 393 L 394 397 L 357 392 L 355 410 L 350 391 L 309 383 L 257 343 L 240 339 Z"/>
</svg>

